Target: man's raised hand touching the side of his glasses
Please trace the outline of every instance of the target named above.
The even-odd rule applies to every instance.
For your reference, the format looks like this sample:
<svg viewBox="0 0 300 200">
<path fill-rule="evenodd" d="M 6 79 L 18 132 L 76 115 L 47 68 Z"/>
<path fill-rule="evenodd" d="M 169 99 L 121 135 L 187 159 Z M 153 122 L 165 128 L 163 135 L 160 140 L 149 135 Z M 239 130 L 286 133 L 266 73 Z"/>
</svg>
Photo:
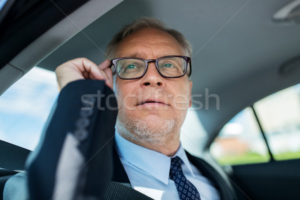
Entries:
<svg viewBox="0 0 300 200">
<path fill-rule="evenodd" d="M 105 80 L 105 84 L 113 89 L 112 70 L 109 60 L 96 65 L 86 58 L 76 58 L 64 62 L 55 69 L 58 89 L 67 83 L 80 79 Z"/>
</svg>

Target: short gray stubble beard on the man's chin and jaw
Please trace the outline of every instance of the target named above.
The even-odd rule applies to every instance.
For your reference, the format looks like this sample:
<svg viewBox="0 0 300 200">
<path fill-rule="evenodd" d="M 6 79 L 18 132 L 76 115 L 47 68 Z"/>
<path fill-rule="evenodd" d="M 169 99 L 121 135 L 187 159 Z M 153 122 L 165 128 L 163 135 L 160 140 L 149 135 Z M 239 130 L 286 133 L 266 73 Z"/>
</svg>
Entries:
<svg viewBox="0 0 300 200">
<path fill-rule="evenodd" d="M 164 145 L 179 133 L 181 121 L 178 118 L 160 119 L 155 124 L 146 119 L 128 119 L 118 113 L 116 124 L 119 131 L 127 138 L 139 142 Z"/>
</svg>

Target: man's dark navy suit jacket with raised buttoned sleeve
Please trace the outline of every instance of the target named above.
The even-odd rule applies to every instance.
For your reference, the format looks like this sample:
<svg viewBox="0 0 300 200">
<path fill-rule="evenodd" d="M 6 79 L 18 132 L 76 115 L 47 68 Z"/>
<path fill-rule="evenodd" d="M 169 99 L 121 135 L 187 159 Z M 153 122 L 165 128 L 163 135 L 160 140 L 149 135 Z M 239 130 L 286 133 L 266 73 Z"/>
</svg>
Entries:
<svg viewBox="0 0 300 200">
<path fill-rule="evenodd" d="M 150 199 L 130 187 L 113 148 L 117 106 L 112 94 L 97 80 L 77 80 L 60 91 L 40 142 L 27 159 L 30 199 L 50 199 L 57 193 L 70 199 Z M 219 189 L 221 199 L 235 199 L 222 173 L 189 153 L 187 157 Z M 69 171 L 75 172 L 68 176 Z M 7 183 L 9 190 L 17 182 Z"/>
</svg>

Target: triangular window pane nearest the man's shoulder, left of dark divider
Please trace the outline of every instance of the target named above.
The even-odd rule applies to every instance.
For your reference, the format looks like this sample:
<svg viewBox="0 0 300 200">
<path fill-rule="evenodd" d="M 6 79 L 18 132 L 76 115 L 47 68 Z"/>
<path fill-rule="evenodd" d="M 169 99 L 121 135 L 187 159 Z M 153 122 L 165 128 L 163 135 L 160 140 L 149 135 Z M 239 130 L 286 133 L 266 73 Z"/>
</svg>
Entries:
<svg viewBox="0 0 300 200">
<path fill-rule="evenodd" d="M 266 162 L 270 159 L 251 107 L 246 107 L 224 125 L 209 150 L 221 165 Z"/>
</svg>

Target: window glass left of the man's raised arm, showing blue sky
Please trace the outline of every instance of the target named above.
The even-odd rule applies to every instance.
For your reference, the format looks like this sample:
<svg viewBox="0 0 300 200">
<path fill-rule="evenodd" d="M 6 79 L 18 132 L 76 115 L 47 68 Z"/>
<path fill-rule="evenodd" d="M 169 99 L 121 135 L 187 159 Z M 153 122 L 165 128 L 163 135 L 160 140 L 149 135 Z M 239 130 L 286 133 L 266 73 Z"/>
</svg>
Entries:
<svg viewBox="0 0 300 200">
<path fill-rule="evenodd" d="M 34 150 L 57 94 L 55 73 L 33 67 L 0 96 L 0 139 Z"/>
</svg>

